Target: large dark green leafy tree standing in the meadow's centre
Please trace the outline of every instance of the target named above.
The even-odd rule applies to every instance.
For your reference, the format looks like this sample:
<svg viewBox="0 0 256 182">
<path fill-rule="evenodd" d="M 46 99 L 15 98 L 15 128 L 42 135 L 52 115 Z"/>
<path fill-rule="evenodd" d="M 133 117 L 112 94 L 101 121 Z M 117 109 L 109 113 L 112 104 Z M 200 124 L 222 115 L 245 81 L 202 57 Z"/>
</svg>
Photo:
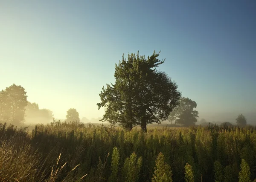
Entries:
<svg viewBox="0 0 256 182">
<path fill-rule="evenodd" d="M 99 93 L 99 109 L 105 107 L 101 121 L 111 124 L 120 123 L 131 130 L 140 125 L 146 131 L 146 125 L 161 123 L 169 113 L 176 109 L 181 93 L 177 84 L 164 72 L 156 68 L 164 63 L 153 53 L 150 57 L 128 54 L 115 67 L 115 83 L 102 87 Z M 106 107 L 107 106 L 107 107 Z"/>
</svg>

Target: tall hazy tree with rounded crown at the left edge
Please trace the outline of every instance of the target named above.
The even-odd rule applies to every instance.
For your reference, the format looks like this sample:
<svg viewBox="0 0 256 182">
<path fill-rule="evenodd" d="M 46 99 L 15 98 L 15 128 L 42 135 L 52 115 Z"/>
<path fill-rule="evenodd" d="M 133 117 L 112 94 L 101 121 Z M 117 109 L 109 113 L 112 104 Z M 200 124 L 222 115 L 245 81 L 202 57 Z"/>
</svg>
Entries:
<svg viewBox="0 0 256 182">
<path fill-rule="evenodd" d="M 25 89 L 15 84 L 0 92 L 0 121 L 20 124 L 25 116 L 27 96 Z"/>
</svg>

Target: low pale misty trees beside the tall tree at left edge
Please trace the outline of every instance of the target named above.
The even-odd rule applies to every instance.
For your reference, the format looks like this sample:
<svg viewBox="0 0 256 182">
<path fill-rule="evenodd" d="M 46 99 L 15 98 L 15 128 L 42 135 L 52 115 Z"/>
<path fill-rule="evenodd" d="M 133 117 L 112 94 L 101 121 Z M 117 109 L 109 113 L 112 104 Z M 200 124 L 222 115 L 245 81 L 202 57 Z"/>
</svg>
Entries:
<svg viewBox="0 0 256 182">
<path fill-rule="evenodd" d="M 26 116 L 25 121 L 26 122 L 51 122 L 53 118 L 53 114 L 51 110 L 47 109 L 39 109 L 38 104 L 28 102 L 28 105 L 26 106 Z"/>
</svg>

